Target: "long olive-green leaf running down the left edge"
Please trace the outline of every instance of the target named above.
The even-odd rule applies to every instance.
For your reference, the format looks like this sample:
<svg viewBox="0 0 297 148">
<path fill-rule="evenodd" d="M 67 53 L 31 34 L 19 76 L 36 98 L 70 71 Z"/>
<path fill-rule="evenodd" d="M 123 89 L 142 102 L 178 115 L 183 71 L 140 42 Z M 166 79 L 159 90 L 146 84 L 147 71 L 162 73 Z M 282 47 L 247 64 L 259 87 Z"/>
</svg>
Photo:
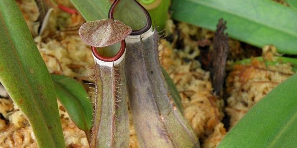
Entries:
<svg viewBox="0 0 297 148">
<path fill-rule="evenodd" d="M 0 0 L 0 81 L 40 148 L 65 148 L 53 83 L 15 0 Z"/>
</svg>

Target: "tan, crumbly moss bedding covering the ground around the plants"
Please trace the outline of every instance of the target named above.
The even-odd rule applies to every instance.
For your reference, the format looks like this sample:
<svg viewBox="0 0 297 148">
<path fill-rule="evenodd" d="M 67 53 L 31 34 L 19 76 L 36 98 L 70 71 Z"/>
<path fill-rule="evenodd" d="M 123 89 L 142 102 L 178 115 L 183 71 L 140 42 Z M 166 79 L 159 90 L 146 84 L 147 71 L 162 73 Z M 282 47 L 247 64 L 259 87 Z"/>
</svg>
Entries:
<svg viewBox="0 0 297 148">
<path fill-rule="evenodd" d="M 90 97 L 94 89 L 88 82 L 93 75 L 88 67 L 94 65 L 90 46 L 78 36 L 83 17 L 55 8 L 38 35 L 39 17 L 34 0 L 16 0 L 32 32 L 36 45 L 50 74 L 63 74 L 81 82 Z M 68 0 L 56 0 L 69 8 Z M 251 57 L 262 56 L 273 60 L 278 55 L 275 47 L 262 49 L 228 39 L 226 78 L 219 93 L 213 93 L 210 72 L 200 61 L 205 51 L 213 50 L 214 33 L 183 22 L 168 19 L 166 37 L 160 39 L 160 63 L 173 79 L 182 97 L 184 117 L 199 137 L 202 148 L 215 148 L 228 130 L 279 83 L 294 74 L 292 65 L 265 63 Z M 251 58 L 246 65 L 236 61 Z M 203 69 L 202 69 L 202 68 Z M 5 92 L 3 88 L 1 88 Z M 0 148 L 37 148 L 32 128 L 25 115 L 5 93 L 0 99 Z M 94 100 L 92 100 L 94 102 Z M 59 104 L 63 134 L 67 148 L 89 148 L 87 138 Z M 130 114 L 131 116 L 131 114 Z M 130 148 L 138 148 L 137 137 L 130 121 Z"/>
</svg>

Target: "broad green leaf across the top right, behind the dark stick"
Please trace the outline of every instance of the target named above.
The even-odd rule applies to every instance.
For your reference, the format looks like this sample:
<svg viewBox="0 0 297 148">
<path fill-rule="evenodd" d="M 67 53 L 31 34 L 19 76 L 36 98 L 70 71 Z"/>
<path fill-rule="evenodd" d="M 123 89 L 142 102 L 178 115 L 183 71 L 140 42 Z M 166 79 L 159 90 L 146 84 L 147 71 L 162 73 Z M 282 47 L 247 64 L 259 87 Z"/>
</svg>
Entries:
<svg viewBox="0 0 297 148">
<path fill-rule="evenodd" d="M 172 0 L 171 10 L 174 19 L 213 31 L 223 18 L 231 37 L 297 54 L 297 11 L 272 0 Z"/>
</svg>

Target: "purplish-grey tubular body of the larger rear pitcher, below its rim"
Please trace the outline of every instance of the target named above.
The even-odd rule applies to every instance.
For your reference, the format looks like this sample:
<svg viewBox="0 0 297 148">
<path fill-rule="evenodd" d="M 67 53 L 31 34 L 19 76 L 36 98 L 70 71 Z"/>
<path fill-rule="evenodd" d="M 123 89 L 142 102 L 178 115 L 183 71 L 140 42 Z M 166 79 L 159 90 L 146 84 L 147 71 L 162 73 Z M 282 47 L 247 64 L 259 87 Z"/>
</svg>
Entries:
<svg viewBox="0 0 297 148">
<path fill-rule="evenodd" d="M 126 38 L 129 105 L 143 148 L 199 148 L 198 138 L 176 107 L 158 60 L 156 30 Z"/>
</svg>

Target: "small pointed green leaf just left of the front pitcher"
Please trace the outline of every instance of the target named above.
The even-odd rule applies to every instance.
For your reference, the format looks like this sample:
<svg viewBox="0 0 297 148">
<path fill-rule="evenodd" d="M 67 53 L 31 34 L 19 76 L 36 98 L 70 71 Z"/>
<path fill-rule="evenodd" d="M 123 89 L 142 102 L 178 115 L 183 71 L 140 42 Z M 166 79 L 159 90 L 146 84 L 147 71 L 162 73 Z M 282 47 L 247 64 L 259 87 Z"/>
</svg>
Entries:
<svg viewBox="0 0 297 148">
<path fill-rule="evenodd" d="M 90 133 L 93 106 L 84 86 L 64 75 L 51 75 L 56 95 L 73 122 L 86 133 Z"/>
</svg>

